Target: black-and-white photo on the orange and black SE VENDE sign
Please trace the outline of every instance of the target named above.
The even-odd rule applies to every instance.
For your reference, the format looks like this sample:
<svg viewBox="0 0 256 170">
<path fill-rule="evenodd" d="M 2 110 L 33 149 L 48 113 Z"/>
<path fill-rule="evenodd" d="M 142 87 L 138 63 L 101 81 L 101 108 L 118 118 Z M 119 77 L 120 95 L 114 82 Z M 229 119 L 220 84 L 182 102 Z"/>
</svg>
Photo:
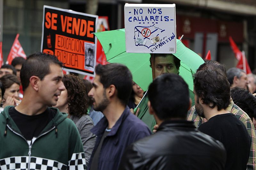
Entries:
<svg viewBox="0 0 256 170">
<path fill-rule="evenodd" d="M 84 43 L 84 52 L 85 52 L 85 64 L 84 68 L 88 70 L 94 70 L 95 67 L 95 51 L 94 44 Z"/>
</svg>

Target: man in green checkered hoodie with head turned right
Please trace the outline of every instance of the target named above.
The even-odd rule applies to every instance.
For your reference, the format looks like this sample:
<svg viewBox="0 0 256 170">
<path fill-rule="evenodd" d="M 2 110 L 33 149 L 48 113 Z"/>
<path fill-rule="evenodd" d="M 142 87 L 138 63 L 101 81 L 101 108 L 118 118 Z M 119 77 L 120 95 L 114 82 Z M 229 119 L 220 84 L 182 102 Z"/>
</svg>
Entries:
<svg viewBox="0 0 256 170">
<path fill-rule="evenodd" d="M 56 56 L 34 53 L 20 71 L 24 96 L 0 114 L 0 169 L 86 169 L 81 138 L 56 108 L 65 89 Z"/>
</svg>

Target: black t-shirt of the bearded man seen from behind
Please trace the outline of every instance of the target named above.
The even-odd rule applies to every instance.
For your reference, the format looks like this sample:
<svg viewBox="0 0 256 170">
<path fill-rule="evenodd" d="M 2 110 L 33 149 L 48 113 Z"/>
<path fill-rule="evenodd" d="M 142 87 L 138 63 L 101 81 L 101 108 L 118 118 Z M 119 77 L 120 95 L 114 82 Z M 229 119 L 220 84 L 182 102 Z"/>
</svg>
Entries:
<svg viewBox="0 0 256 170">
<path fill-rule="evenodd" d="M 251 141 L 244 124 L 234 114 L 216 115 L 198 129 L 223 143 L 227 152 L 225 170 L 246 169 Z"/>
</svg>

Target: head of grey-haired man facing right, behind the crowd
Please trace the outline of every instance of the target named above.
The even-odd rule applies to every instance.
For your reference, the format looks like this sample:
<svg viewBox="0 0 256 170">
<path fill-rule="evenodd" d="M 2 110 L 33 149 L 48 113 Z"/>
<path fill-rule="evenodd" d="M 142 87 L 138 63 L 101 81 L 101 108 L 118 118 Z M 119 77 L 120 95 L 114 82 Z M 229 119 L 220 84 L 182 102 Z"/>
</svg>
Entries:
<svg viewBox="0 0 256 170">
<path fill-rule="evenodd" d="M 247 80 L 246 73 L 242 69 L 236 67 L 229 68 L 227 77 L 228 82 L 230 83 L 230 88 L 241 87 L 247 89 L 249 81 Z"/>
</svg>

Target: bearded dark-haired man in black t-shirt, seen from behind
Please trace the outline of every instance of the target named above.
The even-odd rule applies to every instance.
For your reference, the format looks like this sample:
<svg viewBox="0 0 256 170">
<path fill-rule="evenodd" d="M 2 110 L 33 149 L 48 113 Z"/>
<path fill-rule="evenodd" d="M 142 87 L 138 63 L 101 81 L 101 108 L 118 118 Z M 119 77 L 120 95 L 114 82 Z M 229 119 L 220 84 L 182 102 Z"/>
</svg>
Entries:
<svg viewBox="0 0 256 170">
<path fill-rule="evenodd" d="M 227 151 L 225 169 L 247 169 L 251 148 L 243 123 L 230 113 L 230 84 L 220 70 L 202 70 L 194 75 L 195 108 L 207 122 L 198 130 L 223 143 Z"/>
</svg>

